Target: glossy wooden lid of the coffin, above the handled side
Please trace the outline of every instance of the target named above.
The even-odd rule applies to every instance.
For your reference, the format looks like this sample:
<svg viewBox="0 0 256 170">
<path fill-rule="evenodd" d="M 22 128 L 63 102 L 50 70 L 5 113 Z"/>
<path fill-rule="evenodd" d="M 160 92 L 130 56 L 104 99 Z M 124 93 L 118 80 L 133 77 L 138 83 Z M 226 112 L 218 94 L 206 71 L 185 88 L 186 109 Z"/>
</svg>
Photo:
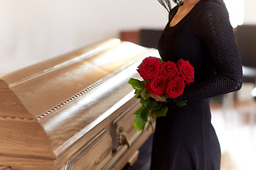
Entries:
<svg viewBox="0 0 256 170">
<path fill-rule="evenodd" d="M 111 39 L 2 75 L 0 154 L 55 159 L 132 97 L 127 81 L 149 55 L 157 50 Z"/>
</svg>

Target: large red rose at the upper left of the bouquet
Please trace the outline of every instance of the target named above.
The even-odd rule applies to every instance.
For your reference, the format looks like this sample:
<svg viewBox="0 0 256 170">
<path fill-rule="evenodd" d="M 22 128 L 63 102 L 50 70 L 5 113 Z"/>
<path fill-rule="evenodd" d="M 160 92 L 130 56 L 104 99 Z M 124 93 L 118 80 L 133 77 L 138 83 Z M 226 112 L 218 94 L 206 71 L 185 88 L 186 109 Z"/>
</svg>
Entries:
<svg viewBox="0 0 256 170">
<path fill-rule="evenodd" d="M 162 64 L 156 57 L 146 57 L 137 71 L 143 79 L 154 79 L 161 72 Z"/>
</svg>

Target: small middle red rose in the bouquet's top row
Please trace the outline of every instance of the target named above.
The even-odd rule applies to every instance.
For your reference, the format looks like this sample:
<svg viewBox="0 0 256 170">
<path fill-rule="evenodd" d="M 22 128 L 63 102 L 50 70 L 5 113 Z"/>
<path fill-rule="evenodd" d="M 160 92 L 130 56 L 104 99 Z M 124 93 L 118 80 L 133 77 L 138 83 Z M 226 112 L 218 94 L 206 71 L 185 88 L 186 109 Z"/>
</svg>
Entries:
<svg viewBox="0 0 256 170">
<path fill-rule="evenodd" d="M 178 67 L 174 62 L 164 62 L 163 63 L 163 69 L 162 74 L 168 78 L 174 79 L 178 76 Z"/>
</svg>

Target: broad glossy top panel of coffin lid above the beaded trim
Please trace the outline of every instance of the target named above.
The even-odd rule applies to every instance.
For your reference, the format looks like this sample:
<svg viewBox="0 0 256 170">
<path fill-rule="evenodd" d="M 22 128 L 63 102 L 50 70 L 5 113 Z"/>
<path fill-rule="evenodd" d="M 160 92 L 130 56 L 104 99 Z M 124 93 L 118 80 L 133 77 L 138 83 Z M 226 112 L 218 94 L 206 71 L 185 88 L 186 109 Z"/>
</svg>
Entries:
<svg viewBox="0 0 256 170">
<path fill-rule="evenodd" d="M 9 88 L 14 91 L 29 113 L 36 118 L 48 108 L 57 106 L 95 81 L 117 71 L 129 62 L 144 57 L 149 52 L 151 50 L 145 47 L 138 47 L 129 42 L 120 42 L 114 47 L 100 53 L 95 52 L 96 55 L 80 60 L 75 60 L 80 57 L 76 56 L 72 60 L 66 60 L 67 64 L 62 65 L 62 63 L 55 62 L 55 66 L 50 64 L 51 69 L 46 69 L 43 66 L 45 68 L 43 71 L 30 67 L 20 70 L 20 73 L 15 75 L 16 81 L 12 78 L 14 74 L 11 74 L 11 77 L 6 75 L 2 78 L 10 84 Z M 41 67 L 41 64 L 38 67 Z M 23 72 L 26 72 L 27 77 L 21 77 Z"/>
</svg>

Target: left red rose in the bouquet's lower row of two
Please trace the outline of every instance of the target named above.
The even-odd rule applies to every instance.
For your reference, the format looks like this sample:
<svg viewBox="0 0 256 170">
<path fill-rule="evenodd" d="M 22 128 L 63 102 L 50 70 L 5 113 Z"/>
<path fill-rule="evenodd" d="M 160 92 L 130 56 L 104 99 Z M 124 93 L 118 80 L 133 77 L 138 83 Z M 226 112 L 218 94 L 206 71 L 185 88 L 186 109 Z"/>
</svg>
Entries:
<svg viewBox="0 0 256 170">
<path fill-rule="evenodd" d="M 166 84 L 167 79 L 163 75 L 159 75 L 158 77 L 146 81 L 145 88 L 149 93 L 164 96 L 166 92 Z"/>
</svg>

